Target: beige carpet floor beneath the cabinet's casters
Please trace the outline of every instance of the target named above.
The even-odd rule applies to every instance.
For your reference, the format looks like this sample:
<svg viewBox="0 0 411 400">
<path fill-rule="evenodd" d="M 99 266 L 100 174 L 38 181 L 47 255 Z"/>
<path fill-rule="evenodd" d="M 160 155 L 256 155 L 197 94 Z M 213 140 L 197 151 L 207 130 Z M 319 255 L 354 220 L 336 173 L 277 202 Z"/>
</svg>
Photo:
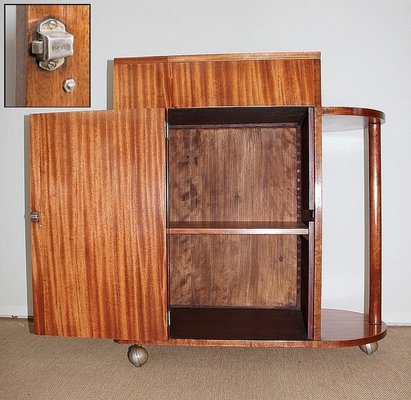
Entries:
<svg viewBox="0 0 411 400">
<path fill-rule="evenodd" d="M 110 340 L 38 337 L 0 319 L 0 399 L 411 400 L 411 327 L 372 356 L 346 349 L 147 346 L 142 368 Z"/>
</svg>

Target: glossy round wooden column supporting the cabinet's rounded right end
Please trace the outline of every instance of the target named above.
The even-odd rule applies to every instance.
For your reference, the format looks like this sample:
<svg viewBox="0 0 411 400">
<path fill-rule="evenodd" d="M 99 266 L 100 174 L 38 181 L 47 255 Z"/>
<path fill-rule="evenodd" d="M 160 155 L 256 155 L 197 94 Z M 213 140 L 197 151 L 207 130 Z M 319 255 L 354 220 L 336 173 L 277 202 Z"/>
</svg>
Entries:
<svg viewBox="0 0 411 400">
<path fill-rule="evenodd" d="M 369 320 L 381 323 L 381 125 L 368 126 L 368 173 L 370 213 L 370 282 Z"/>
</svg>

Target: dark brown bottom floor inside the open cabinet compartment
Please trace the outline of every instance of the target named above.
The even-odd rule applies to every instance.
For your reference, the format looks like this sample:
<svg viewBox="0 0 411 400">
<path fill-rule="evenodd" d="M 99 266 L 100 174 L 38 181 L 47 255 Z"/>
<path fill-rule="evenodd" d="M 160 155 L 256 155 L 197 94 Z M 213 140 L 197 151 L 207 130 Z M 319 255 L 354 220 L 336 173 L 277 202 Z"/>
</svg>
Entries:
<svg viewBox="0 0 411 400">
<path fill-rule="evenodd" d="M 305 340 L 300 310 L 185 308 L 170 310 L 170 337 L 215 340 Z"/>
</svg>

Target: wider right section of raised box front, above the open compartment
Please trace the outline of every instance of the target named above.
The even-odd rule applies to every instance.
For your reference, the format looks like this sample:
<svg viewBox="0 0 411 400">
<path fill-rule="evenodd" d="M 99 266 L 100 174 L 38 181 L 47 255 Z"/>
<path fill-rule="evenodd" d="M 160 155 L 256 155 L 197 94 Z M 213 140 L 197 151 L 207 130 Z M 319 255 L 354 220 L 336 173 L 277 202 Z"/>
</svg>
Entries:
<svg viewBox="0 0 411 400">
<path fill-rule="evenodd" d="M 170 63 L 171 106 L 317 105 L 318 60 Z"/>
</svg>

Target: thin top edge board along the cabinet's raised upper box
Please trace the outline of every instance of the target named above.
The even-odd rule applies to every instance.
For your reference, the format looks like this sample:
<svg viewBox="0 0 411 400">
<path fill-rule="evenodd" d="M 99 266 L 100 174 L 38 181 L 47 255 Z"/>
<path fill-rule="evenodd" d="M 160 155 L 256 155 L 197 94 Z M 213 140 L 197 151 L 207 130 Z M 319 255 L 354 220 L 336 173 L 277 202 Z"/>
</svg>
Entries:
<svg viewBox="0 0 411 400">
<path fill-rule="evenodd" d="M 146 62 L 195 62 L 195 61 L 238 61 L 238 60 L 284 60 L 284 59 L 314 59 L 321 58 L 320 52 L 275 52 L 275 53 L 233 53 L 233 54 L 194 54 L 148 57 L 115 58 L 115 64 L 146 63 Z"/>
</svg>

